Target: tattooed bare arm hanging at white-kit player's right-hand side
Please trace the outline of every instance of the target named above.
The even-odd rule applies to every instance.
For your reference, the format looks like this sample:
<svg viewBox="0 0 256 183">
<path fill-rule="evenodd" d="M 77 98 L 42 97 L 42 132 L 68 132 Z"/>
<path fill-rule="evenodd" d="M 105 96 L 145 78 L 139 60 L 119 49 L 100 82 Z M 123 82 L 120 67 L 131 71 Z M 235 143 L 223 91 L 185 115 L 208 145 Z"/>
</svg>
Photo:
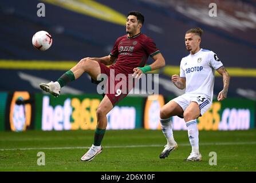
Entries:
<svg viewBox="0 0 256 183">
<path fill-rule="evenodd" d="M 230 75 L 224 66 L 217 69 L 217 71 L 220 75 L 222 75 L 223 78 L 223 90 L 219 92 L 217 99 L 218 101 L 223 101 L 225 98 L 227 98 L 227 90 L 229 89 Z"/>
</svg>

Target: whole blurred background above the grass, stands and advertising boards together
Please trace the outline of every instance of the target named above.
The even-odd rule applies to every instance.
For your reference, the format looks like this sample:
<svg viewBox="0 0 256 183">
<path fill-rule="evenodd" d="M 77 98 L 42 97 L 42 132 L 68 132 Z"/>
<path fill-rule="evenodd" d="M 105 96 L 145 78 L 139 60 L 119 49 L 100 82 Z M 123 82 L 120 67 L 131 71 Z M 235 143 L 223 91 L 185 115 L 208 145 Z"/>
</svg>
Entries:
<svg viewBox="0 0 256 183">
<path fill-rule="evenodd" d="M 218 6 L 217 17 L 208 15 L 212 2 Z M 45 4 L 45 17 L 37 16 L 38 3 Z M 160 107 L 184 93 L 174 87 L 170 76 L 179 73 L 180 59 L 188 54 L 184 33 L 191 27 L 204 30 L 203 49 L 217 53 L 231 74 L 228 98 L 218 102 L 223 82 L 216 73 L 214 103 L 199 118 L 199 129 L 255 128 L 256 1 L 3 0 L 0 131 L 94 130 L 102 97 L 88 75 L 64 87 L 57 99 L 42 92 L 38 84 L 56 80 L 81 58 L 108 55 L 116 38 L 125 34 L 126 14 L 131 10 L 144 14 L 142 31 L 154 39 L 166 67 L 155 72 L 159 73 L 159 98 L 129 95 L 108 114 L 108 129 L 160 129 Z M 31 45 L 33 34 L 40 30 L 53 37 L 49 50 L 38 51 Z M 175 130 L 186 130 L 182 119 L 173 121 Z"/>
</svg>

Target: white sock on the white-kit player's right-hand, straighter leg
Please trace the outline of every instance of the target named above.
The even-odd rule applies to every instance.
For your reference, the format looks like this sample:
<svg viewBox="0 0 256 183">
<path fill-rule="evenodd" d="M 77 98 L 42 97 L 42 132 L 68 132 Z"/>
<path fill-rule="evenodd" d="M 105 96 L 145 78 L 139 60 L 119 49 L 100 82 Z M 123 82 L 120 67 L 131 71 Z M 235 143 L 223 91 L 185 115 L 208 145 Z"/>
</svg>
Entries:
<svg viewBox="0 0 256 183">
<path fill-rule="evenodd" d="M 192 146 L 192 152 L 199 154 L 199 132 L 196 120 L 186 122 L 186 126 L 188 129 L 188 138 Z"/>
</svg>

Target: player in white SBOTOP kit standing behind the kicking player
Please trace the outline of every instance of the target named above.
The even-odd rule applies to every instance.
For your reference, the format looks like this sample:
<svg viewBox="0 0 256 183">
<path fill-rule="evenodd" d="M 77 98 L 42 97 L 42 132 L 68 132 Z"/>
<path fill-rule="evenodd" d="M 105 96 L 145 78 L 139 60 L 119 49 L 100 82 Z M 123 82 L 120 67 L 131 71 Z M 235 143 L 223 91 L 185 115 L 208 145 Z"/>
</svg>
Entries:
<svg viewBox="0 0 256 183">
<path fill-rule="evenodd" d="M 227 97 L 230 75 L 214 52 L 200 48 L 202 32 L 200 28 L 186 32 L 185 45 L 190 54 L 180 62 L 180 75 L 172 75 L 174 85 L 179 89 L 186 87 L 186 93 L 174 98 L 160 110 L 161 128 L 167 138 L 167 145 L 164 146 L 160 158 L 167 157 L 178 147 L 172 133 L 170 117 L 179 116 L 184 117 L 192 146 L 192 152 L 186 160 L 201 161 L 196 119 L 202 116 L 212 104 L 215 70 L 223 77 L 223 90 L 218 94 L 218 101 Z"/>
</svg>

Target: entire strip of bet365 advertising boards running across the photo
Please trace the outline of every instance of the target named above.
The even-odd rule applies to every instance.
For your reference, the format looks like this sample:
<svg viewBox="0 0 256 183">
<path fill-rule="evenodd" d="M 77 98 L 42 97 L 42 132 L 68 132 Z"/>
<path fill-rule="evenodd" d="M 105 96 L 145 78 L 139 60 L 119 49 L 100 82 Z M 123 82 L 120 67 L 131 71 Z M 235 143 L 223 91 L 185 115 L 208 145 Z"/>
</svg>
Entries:
<svg viewBox="0 0 256 183">
<path fill-rule="evenodd" d="M 64 95 L 0 92 L 0 130 L 94 130 L 98 94 Z M 107 129 L 160 129 L 160 108 L 172 97 L 126 97 L 109 112 Z M 198 118 L 199 130 L 247 130 L 255 128 L 255 101 L 227 98 L 213 101 Z M 186 130 L 182 118 L 172 117 L 174 130 Z"/>
</svg>

